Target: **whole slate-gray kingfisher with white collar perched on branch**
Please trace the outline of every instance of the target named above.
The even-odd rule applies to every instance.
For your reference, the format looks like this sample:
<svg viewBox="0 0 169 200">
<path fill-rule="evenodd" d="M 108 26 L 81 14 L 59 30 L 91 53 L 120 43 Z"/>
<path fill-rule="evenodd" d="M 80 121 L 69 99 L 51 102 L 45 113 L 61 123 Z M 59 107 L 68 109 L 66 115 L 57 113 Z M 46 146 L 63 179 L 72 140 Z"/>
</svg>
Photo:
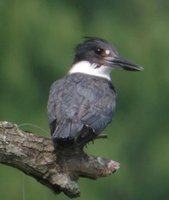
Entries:
<svg viewBox="0 0 169 200">
<path fill-rule="evenodd" d="M 121 58 L 104 39 L 86 37 L 77 45 L 68 74 L 50 89 L 47 109 L 54 144 L 72 141 L 84 145 L 111 122 L 116 105 L 112 69 L 143 70 Z"/>
</svg>

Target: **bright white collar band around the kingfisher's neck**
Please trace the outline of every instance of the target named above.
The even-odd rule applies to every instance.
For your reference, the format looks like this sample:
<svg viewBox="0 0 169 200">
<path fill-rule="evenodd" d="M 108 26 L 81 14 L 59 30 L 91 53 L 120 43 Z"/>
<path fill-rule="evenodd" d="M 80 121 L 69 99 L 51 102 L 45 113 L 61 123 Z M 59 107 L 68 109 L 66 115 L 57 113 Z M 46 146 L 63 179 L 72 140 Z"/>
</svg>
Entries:
<svg viewBox="0 0 169 200">
<path fill-rule="evenodd" d="M 95 63 L 91 64 L 88 61 L 80 61 L 72 66 L 72 68 L 69 71 L 69 74 L 83 73 L 111 80 L 111 71 L 111 67 L 105 65 L 101 65 L 97 68 L 97 64 Z"/>
</svg>

